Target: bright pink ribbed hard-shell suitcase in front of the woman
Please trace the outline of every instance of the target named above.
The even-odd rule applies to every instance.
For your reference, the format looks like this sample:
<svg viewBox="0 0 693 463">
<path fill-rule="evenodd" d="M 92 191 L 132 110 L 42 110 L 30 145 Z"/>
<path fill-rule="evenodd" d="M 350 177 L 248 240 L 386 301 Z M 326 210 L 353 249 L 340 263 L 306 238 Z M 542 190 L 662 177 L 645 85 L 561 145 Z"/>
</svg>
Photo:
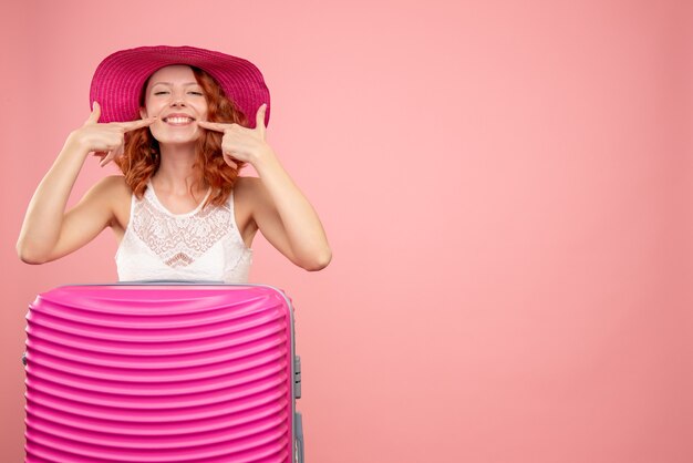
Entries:
<svg viewBox="0 0 693 463">
<path fill-rule="evenodd" d="M 25 462 L 303 462 L 282 291 L 64 286 L 27 319 Z"/>
</svg>

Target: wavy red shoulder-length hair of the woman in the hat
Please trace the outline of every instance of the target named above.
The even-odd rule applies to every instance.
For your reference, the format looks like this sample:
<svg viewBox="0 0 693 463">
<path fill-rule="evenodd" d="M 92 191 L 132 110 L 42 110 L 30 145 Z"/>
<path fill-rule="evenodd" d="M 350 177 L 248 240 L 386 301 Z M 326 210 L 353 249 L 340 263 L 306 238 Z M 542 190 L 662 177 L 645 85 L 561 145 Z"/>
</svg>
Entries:
<svg viewBox="0 0 693 463">
<path fill-rule="evenodd" d="M 236 123 L 248 126 L 246 115 L 229 100 L 221 86 L 205 71 L 190 66 L 195 80 L 203 88 L 207 100 L 207 121 Z M 142 88 L 139 106 L 144 107 L 144 95 L 148 79 Z M 208 184 L 211 187 L 209 198 L 203 207 L 209 203 L 220 206 L 228 200 L 239 171 L 246 165 L 241 161 L 234 160 L 237 167 L 226 164 L 221 155 L 223 134 L 215 131 L 203 131 L 197 140 L 195 152 L 196 160 L 193 165 L 195 178 L 190 185 L 190 193 L 195 185 Z M 161 163 L 158 142 L 152 136 L 148 127 L 138 128 L 125 134 L 123 155 L 114 160 L 125 176 L 125 183 L 138 199 L 142 199 L 147 189 L 147 181 L 156 173 Z"/>
</svg>

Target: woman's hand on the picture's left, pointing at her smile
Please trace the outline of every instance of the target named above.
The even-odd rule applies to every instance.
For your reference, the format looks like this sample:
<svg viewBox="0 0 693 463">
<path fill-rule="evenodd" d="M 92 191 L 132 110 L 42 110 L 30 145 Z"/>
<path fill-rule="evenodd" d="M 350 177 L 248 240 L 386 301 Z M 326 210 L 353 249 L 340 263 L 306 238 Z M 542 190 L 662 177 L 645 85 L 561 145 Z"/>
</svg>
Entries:
<svg viewBox="0 0 693 463">
<path fill-rule="evenodd" d="M 101 157 L 103 167 L 123 154 L 125 133 L 152 125 L 157 117 L 148 117 L 131 122 L 99 123 L 101 105 L 94 102 L 94 109 L 80 128 L 70 134 L 70 140 L 86 154 L 94 153 Z"/>
</svg>

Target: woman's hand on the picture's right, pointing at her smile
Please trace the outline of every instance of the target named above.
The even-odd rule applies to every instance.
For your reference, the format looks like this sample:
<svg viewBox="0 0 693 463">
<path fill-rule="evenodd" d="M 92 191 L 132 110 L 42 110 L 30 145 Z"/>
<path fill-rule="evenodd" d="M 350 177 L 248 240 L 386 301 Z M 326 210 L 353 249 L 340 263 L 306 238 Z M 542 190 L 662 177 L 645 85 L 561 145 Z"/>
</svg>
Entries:
<svg viewBox="0 0 693 463">
<path fill-rule="evenodd" d="M 231 167 L 238 165 L 234 162 L 242 161 L 255 165 L 262 156 L 272 152 L 272 148 L 265 141 L 265 112 L 267 103 L 258 109 L 256 114 L 255 128 L 244 127 L 239 124 L 229 124 L 225 122 L 198 121 L 197 125 L 209 131 L 224 133 L 221 138 L 221 154 L 224 161 Z"/>
</svg>

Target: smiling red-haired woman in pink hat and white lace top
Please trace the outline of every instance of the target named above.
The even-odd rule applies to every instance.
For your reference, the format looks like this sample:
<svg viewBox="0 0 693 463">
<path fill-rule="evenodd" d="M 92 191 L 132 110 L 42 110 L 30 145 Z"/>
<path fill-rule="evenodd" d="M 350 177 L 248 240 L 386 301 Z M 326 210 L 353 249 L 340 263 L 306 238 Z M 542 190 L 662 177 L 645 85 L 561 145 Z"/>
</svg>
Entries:
<svg viewBox="0 0 693 463">
<path fill-rule="evenodd" d="M 29 204 L 23 261 L 58 259 L 111 227 L 121 281 L 246 282 L 258 229 L 299 267 L 329 264 L 317 213 L 265 140 L 269 92 L 254 64 L 192 47 L 123 50 L 96 69 L 91 101 Z M 90 153 L 123 175 L 65 213 Z M 238 176 L 247 163 L 259 178 Z"/>
</svg>

